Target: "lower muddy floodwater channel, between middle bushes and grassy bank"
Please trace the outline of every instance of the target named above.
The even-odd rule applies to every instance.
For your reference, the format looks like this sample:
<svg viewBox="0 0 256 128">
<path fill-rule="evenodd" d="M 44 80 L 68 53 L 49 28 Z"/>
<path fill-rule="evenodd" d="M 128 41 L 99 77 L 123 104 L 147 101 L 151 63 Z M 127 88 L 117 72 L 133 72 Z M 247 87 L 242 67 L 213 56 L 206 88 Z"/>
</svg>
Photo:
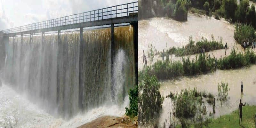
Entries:
<svg viewBox="0 0 256 128">
<path fill-rule="evenodd" d="M 198 76 L 184 76 L 177 80 L 162 81 L 159 89 L 160 93 L 166 97 L 172 93 L 178 93 L 182 89 L 194 89 L 198 91 L 205 91 L 207 94 L 212 93 L 217 99 L 218 83 L 228 83 L 228 101 L 221 106 L 220 101 L 216 101 L 215 111 L 213 115 L 215 118 L 221 115 L 226 115 L 238 109 L 240 99 L 249 105 L 256 105 L 256 65 L 251 65 L 247 68 L 235 70 L 217 70 L 216 72 L 198 75 Z M 241 94 L 241 81 L 243 81 L 244 94 Z M 205 103 L 207 105 L 207 103 Z M 163 102 L 163 111 L 160 114 L 159 125 L 164 123 L 164 120 L 169 118 L 172 102 L 170 98 L 165 98 Z M 212 107 L 207 106 L 208 114 L 213 113 Z"/>
</svg>

